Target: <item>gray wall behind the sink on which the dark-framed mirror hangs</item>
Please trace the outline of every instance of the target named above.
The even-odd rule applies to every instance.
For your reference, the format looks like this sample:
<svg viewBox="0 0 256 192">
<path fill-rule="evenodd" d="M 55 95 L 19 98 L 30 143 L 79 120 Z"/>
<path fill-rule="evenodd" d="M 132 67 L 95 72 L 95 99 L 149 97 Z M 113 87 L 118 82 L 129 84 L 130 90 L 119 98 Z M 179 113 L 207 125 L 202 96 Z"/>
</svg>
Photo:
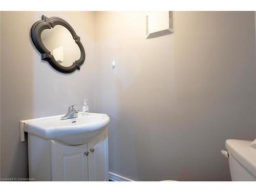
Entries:
<svg viewBox="0 0 256 192">
<path fill-rule="evenodd" d="M 32 46 L 30 28 L 41 15 L 59 16 L 75 29 L 86 50 L 80 71 L 53 70 Z M 1 15 L 1 176 L 28 177 L 27 143 L 19 120 L 64 114 L 89 99 L 94 111 L 95 13 L 2 12 Z"/>
</svg>

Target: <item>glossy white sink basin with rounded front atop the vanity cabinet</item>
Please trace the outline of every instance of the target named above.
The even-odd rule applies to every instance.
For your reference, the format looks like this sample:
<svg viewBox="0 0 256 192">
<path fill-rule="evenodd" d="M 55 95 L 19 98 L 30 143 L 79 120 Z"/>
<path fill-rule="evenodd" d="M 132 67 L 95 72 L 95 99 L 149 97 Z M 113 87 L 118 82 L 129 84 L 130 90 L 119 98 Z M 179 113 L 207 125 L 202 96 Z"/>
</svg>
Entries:
<svg viewBox="0 0 256 192">
<path fill-rule="evenodd" d="M 23 123 L 20 127 L 21 136 L 22 131 L 25 131 L 44 139 L 78 145 L 87 143 L 100 134 L 110 122 L 108 115 L 99 113 L 79 113 L 77 118 L 66 120 L 60 120 L 61 116 L 63 115 L 20 121 Z"/>
</svg>

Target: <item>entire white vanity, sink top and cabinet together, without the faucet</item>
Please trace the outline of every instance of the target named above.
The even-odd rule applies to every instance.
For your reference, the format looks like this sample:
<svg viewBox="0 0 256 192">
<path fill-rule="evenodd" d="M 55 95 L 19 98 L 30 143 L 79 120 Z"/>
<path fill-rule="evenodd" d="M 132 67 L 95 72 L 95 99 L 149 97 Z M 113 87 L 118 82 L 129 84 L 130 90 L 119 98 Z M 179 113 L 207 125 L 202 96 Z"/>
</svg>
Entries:
<svg viewBox="0 0 256 192">
<path fill-rule="evenodd" d="M 20 121 L 20 138 L 28 132 L 29 177 L 36 181 L 108 181 L 106 114 L 62 115 Z"/>
</svg>

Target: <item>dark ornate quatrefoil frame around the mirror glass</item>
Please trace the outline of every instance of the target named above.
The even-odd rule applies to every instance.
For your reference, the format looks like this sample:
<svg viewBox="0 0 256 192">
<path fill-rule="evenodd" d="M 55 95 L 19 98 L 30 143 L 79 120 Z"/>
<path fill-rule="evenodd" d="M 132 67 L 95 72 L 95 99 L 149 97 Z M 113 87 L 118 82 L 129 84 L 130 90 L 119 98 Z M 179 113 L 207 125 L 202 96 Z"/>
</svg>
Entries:
<svg viewBox="0 0 256 192">
<path fill-rule="evenodd" d="M 59 63 L 54 59 L 53 55 L 51 55 L 51 52 L 46 49 L 44 44 L 41 40 L 41 33 L 45 29 L 51 29 L 54 28 L 56 25 L 62 25 L 63 27 L 66 27 L 70 33 L 73 36 L 73 39 L 75 40 L 76 44 L 78 45 L 80 49 L 80 58 L 73 62 L 72 66 L 70 67 L 64 67 L 59 65 Z M 32 41 L 36 47 L 36 49 L 41 53 L 41 59 L 47 60 L 50 65 L 57 71 L 61 73 L 72 73 L 76 69 L 80 70 L 80 66 L 83 64 L 84 60 L 86 59 L 86 53 L 84 52 L 83 46 L 80 41 L 80 37 L 76 35 L 76 32 L 74 29 L 66 22 L 66 20 L 63 20 L 59 17 L 46 17 L 45 15 L 42 15 L 42 20 L 38 20 L 38 22 L 34 23 L 34 25 L 31 28 L 31 38 Z"/>
</svg>

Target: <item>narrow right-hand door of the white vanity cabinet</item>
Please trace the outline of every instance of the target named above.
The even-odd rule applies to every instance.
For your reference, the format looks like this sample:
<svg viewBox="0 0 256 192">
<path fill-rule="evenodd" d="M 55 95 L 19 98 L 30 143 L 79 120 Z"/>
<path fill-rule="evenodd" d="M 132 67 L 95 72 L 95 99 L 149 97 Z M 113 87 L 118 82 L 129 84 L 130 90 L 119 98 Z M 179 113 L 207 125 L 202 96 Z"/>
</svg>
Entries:
<svg viewBox="0 0 256 192">
<path fill-rule="evenodd" d="M 108 129 L 88 143 L 89 181 L 109 181 Z"/>
</svg>

